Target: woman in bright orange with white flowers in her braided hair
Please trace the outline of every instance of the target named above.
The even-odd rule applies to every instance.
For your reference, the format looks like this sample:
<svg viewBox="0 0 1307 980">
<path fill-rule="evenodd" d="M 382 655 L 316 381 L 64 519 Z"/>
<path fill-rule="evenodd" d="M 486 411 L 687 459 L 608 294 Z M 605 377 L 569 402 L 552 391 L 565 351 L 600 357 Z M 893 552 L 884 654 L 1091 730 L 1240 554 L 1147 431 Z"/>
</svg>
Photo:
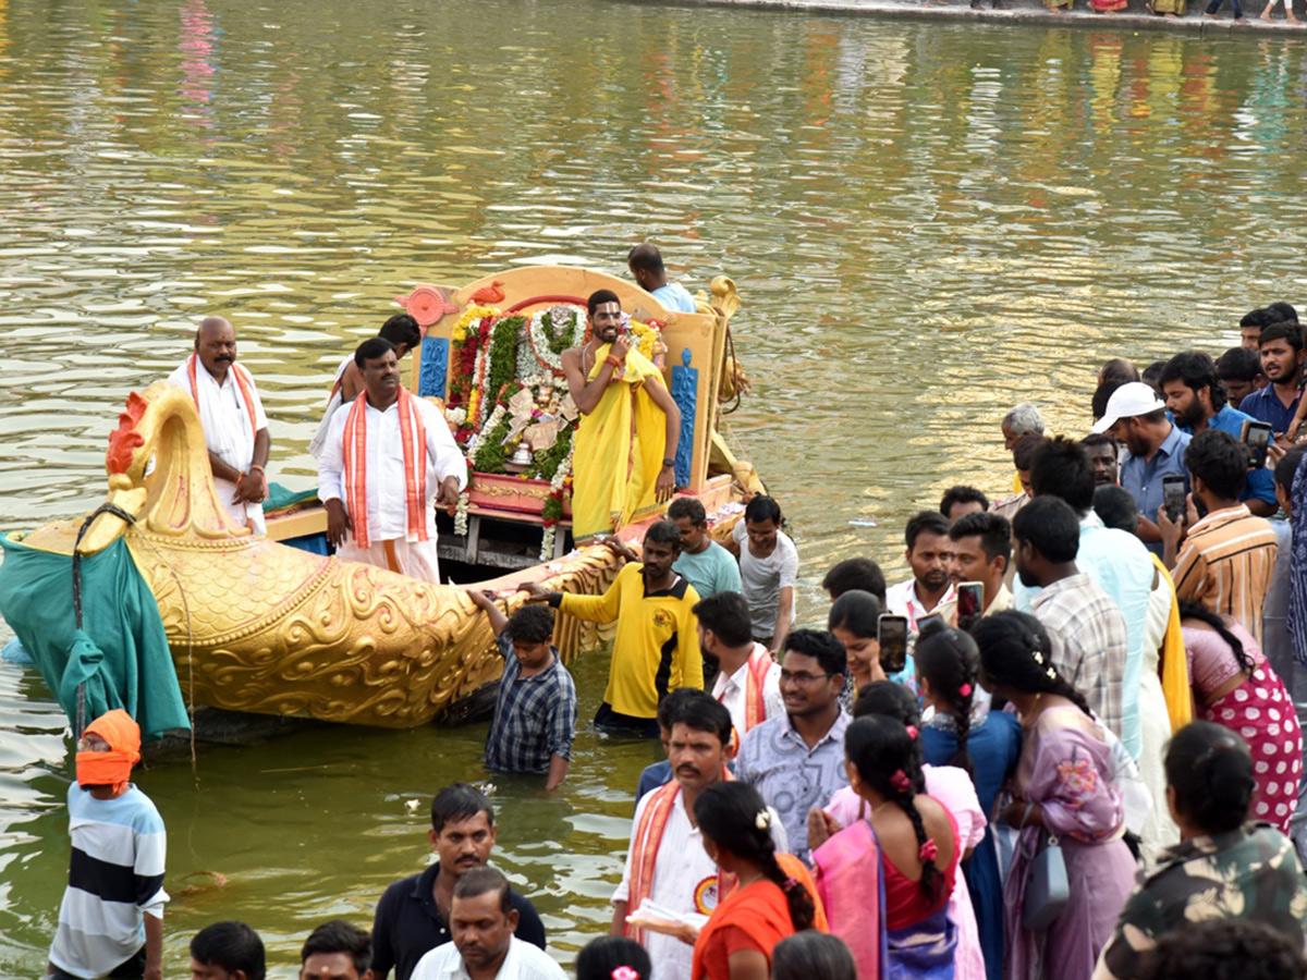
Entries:
<svg viewBox="0 0 1307 980">
<path fill-rule="evenodd" d="M 776 853 L 772 814 L 746 783 L 714 783 L 694 801 L 703 849 L 736 887 L 712 911 L 694 943 L 691 980 L 767 980 L 771 950 L 826 916 L 812 877 L 792 855 Z"/>
</svg>

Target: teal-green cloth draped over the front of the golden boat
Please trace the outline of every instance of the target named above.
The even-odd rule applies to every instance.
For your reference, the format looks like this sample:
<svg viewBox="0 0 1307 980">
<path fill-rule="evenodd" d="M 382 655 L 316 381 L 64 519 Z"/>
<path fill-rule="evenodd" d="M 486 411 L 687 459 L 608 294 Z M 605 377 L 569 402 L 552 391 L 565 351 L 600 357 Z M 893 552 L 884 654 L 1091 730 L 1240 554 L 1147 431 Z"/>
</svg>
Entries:
<svg viewBox="0 0 1307 980">
<path fill-rule="evenodd" d="M 82 630 L 73 618 L 72 558 L 0 537 L 0 614 L 69 720 L 86 683 L 86 721 L 123 708 L 144 740 L 188 729 L 159 609 L 119 538 L 81 561 Z"/>
</svg>

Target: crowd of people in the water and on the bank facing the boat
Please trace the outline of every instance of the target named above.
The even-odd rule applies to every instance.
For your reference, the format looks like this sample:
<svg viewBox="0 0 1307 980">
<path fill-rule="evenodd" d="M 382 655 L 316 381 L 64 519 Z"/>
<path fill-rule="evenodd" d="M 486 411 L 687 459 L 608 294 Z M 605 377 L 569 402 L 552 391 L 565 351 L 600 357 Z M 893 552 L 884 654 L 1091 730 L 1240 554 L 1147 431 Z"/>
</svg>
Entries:
<svg viewBox="0 0 1307 980">
<path fill-rule="evenodd" d="M 616 625 L 593 724 L 667 755 L 640 775 L 612 934 L 578 977 L 1307 977 L 1287 836 L 1303 335 L 1286 304 L 1242 332 L 1219 358 L 1110 361 L 1081 438 L 1014 406 L 1006 493 L 953 487 L 908 520 L 901 583 L 868 557 L 831 567 L 825 629 L 799 626 L 797 551 L 763 495 L 725 546 L 693 498 L 639 555 L 608 538 L 626 564 L 604 595 L 527 583 L 508 615 L 476 593 L 506 660 L 490 767 L 566 777 L 555 614 Z M 55 976 L 159 976 L 163 831 L 128 781 L 133 729 L 115 712 L 78 746 Z M 489 866 L 490 800 L 440 789 L 429 839 L 437 862 L 386 890 L 370 934 L 323 925 L 301 976 L 561 976 Z M 239 923 L 191 951 L 196 977 L 263 976 Z"/>
</svg>

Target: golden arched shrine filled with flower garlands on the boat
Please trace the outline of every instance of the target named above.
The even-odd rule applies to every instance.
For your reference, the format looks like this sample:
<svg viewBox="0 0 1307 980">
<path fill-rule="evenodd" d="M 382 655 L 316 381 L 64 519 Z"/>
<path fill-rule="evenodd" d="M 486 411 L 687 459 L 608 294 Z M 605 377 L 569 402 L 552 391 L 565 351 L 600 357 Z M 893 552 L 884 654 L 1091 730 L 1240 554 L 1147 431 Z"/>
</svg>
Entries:
<svg viewBox="0 0 1307 980">
<path fill-rule="evenodd" d="M 566 267 L 511 269 L 461 289 L 420 285 L 399 298 L 423 331 L 410 387 L 443 400 L 468 455 L 472 480 L 455 533 L 468 536 L 469 561 L 482 516 L 544 525 L 541 561 L 563 551 L 557 528 L 570 527 L 579 416 L 562 351 L 586 341 L 586 299 L 599 289 L 618 295 L 640 351 L 663 368 L 681 409 L 677 487 L 702 497 L 710 512 L 731 500 L 732 474 L 710 476 L 727 327 L 738 307 L 728 278 L 715 280 L 693 314 L 667 310 L 614 276 Z"/>
</svg>

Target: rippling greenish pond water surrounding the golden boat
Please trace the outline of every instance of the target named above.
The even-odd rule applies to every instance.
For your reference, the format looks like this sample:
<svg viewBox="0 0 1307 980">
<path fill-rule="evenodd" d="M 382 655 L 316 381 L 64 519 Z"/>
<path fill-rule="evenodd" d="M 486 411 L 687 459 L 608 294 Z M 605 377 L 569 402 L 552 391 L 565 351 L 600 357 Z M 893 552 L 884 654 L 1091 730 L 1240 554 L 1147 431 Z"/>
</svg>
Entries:
<svg viewBox="0 0 1307 980">
<path fill-rule="evenodd" d="M 586 24 L 584 43 L 559 25 Z M 1087 422 L 1094 368 L 1219 351 L 1302 299 L 1304 54 L 1273 38 L 877 24 L 600 0 L 0 0 L 0 527 L 103 490 L 127 389 L 197 316 L 239 331 L 303 451 L 342 350 L 414 281 L 623 272 L 651 237 L 745 299 L 735 434 L 796 528 L 801 613 L 836 558 L 1001 491 L 1014 401 Z M 877 528 L 851 527 L 873 517 Z M 591 700 L 601 657 L 578 665 Z M 583 712 L 584 713 L 584 712 Z M 0 670 L 0 973 L 33 973 L 67 861 L 61 719 Z M 285 973 L 319 919 L 418 866 L 421 809 L 482 730 L 318 730 L 142 784 L 170 831 L 169 951 L 239 916 Z M 566 791 L 497 779 L 502 864 L 570 959 L 603 929 L 643 745 L 584 733 Z M 222 891 L 204 889 L 218 872 Z"/>
</svg>

